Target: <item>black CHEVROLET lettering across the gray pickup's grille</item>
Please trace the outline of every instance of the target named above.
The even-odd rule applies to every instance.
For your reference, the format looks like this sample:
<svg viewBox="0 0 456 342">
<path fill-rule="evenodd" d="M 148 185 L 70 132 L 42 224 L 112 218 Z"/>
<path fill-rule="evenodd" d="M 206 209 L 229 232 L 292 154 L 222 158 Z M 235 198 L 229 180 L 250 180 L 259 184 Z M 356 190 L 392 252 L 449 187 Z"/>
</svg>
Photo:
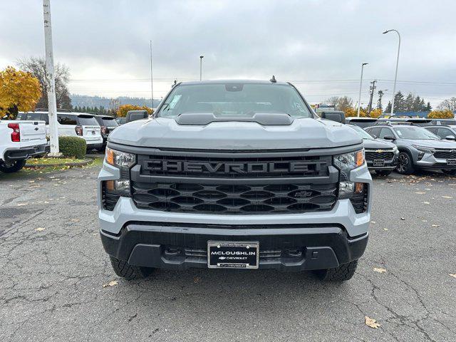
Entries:
<svg viewBox="0 0 456 342">
<path fill-rule="evenodd" d="M 326 163 L 314 163 L 316 171 Z M 183 162 L 173 160 L 145 160 L 143 170 L 152 172 L 192 172 L 192 173 L 282 173 L 309 171 L 307 162 Z"/>
</svg>

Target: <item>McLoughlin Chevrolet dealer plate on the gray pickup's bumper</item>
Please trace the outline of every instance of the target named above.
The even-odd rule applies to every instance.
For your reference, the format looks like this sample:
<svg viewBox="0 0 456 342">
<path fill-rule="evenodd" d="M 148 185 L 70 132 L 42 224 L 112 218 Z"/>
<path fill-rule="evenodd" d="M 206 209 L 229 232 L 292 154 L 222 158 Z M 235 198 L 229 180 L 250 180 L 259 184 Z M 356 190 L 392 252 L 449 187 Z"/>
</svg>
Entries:
<svg viewBox="0 0 456 342">
<path fill-rule="evenodd" d="M 258 242 L 207 242 L 209 269 L 258 269 Z"/>
</svg>

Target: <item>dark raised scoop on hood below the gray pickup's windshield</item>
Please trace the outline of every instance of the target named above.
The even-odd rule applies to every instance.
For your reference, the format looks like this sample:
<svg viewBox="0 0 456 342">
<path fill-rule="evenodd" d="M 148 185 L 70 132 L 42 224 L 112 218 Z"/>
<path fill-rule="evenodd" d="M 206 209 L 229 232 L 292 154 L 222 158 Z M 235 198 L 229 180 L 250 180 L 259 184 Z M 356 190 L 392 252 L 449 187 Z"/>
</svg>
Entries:
<svg viewBox="0 0 456 342">
<path fill-rule="evenodd" d="M 209 123 L 259 123 L 265 126 L 291 125 L 293 118 L 286 113 L 256 113 L 247 118 L 217 117 L 214 113 L 182 113 L 175 119 L 179 125 L 209 125 Z"/>
</svg>

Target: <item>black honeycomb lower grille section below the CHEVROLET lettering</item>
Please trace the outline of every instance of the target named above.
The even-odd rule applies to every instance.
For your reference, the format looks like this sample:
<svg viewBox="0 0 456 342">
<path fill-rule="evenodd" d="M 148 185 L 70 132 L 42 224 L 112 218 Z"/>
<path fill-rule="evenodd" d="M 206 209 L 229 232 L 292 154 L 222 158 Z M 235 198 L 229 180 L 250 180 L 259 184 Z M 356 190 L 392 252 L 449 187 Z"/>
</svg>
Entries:
<svg viewBox="0 0 456 342">
<path fill-rule="evenodd" d="M 208 214 L 296 213 L 331 210 L 337 183 L 217 185 L 133 182 L 133 201 L 141 209 Z"/>
</svg>

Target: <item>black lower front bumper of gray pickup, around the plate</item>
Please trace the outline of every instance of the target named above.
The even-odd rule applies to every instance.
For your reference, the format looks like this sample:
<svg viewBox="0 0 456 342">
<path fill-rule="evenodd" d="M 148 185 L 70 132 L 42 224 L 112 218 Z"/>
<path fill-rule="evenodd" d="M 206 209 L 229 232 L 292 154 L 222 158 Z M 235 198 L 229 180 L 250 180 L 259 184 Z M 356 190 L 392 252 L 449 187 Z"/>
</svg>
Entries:
<svg viewBox="0 0 456 342">
<path fill-rule="evenodd" d="M 223 228 L 222 228 L 223 227 Z M 259 242 L 259 269 L 329 269 L 359 259 L 368 234 L 349 239 L 338 226 L 282 225 L 254 229 L 128 224 L 120 234 L 101 231 L 105 251 L 135 266 L 207 268 L 207 242 Z M 233 226 L 235 227 L 235 226 Z"/>
</svg>

